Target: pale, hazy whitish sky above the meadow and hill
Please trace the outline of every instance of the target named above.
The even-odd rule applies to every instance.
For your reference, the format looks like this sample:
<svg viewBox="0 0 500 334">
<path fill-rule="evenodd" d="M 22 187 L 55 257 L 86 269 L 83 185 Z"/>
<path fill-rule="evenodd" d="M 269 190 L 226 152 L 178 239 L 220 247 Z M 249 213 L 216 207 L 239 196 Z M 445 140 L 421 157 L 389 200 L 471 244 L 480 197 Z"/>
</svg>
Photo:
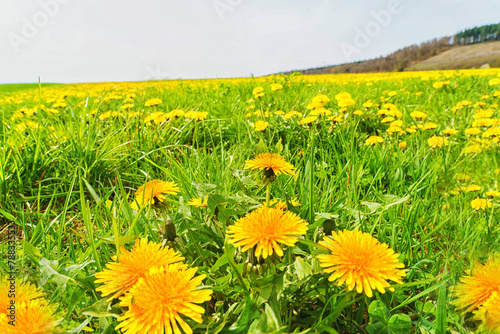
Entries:
<svg viewBox="0 0 500 334">
<path fill-rule="evenodd" d="M 498 0 L 0 0 L 0 83 L 260 76 L 499 22 Z"/>
</svg>

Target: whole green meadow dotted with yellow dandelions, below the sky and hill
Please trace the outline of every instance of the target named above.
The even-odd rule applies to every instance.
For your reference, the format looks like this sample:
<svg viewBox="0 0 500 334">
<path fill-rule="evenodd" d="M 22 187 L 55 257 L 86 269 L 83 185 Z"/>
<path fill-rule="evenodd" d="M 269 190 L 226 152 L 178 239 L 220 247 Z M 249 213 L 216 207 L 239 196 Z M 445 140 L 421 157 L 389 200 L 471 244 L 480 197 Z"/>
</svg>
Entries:
<svg viewBox="0 0 500 334">
<path fill-rule="evenodd" d="M 500 69 L 0 86 L 0 333 L 500 333 Z"/>
</svg>

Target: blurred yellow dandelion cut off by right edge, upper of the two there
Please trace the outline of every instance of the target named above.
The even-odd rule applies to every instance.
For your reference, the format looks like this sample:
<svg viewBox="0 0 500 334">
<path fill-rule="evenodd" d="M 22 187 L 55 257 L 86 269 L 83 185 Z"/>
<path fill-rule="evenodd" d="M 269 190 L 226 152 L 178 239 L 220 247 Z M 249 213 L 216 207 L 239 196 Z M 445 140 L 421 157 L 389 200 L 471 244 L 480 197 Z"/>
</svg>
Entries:
<svg viewBox="0 0 500 334">
<path fill-rule="evenodd" d="M 493 294 L 500 293 L 500 255 L 492 255 L 485 265 L 476 263 L 473 275 L 460 278 L 455 286 L 453 302 L 464 313 L 480 307 Z"/>
</svg>

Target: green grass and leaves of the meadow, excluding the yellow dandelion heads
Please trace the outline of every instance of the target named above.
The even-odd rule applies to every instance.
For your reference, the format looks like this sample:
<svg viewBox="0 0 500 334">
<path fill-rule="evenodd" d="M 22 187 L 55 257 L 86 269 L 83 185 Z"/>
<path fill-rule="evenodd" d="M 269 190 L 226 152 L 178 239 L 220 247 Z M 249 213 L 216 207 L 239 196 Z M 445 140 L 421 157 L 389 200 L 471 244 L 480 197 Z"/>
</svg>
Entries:
<svg viewBox="0 0 500 334">
<path fill-rule="evenodd" d="M 204 285 L 214 290 L 212 299 L 201 304 L 203 323 L 187 320 L 197 333 L 373 333 L 382 326 L 377 312 L 401 320 L 399 331 L 389 326 L 397 333 L 476 330 L 480 322 L 452 306 L 451 288 L 475 260 L 484 262 L 499 251 L 498 197 L 487 210 L 474 210 L 471 201 L 498 190 L 500 153 L 494 141 L 484 142 L 479 153 L 462 151 L 474 137 L 464 133 L 475 120 L 473 110 L 491 108 L 492 118 L 500 118 L 500 100 L 491 96 L 499 87 L 488 85 L 497 73 L 44 84 L 41 92 L 38 85 L 6 86 L 8 93 L 0 96 L 2 256 L 7 218 L 13 216 L 19 279 L 36 283 L 56 305 L 60 328 L 73 333 L 115 332 L 116 316 L 124 310 L 118 300 L 105 302 L 95 274 L 117 254 L 117 245 L 130 249 L 139 236 L 163 242 L 162 226 L 168 221 L 177 238 L 167 244 L 189 267 L 197 267 L 198 275 L 205 274 Z M 433 88 L 441 79 L 451 83 Z M 275 82 L 284 88 L 271 91 Z M 265 95 L 249 102 L 256 86 L 264 87 Z M 349 92 L 356 104 L 338 124 L 321 116 L 299 125 L 297 116 L 285 120 L 274 114 L 297 110 L 306 115 L 308 103 L 321 93 L 331 99 L 325 107 L 338 115 L 335 95 L 340 92 Z M 119 97 L 106 101 L 113 94 Z M 127 94 L 134 94 L 133 102 L 124 101 Z M 403 128 L 422 123 L 410 116 L 415 110 L 428 113 L 423 123 L 435 122 L 438 128 L 390 136 L 388 124 L 377 116 L 381 97 L 401 111 Z M 151 98 L 163 103 L 145 107 Z M 59 113 L 41 108 L 57 100 L 67 104 Z M 362 107 L 367 100 L 375 105 Z M 462 100 L 486 105 L 453 111 Z M 122 111 L 123 117 L 98 118 L 126 103 L 133 104 L 129 112 L 138 112 L 137 117 Z M 33 107 L 37 112 L 28 116 L 26 108 Z M 144 122 L 154 111 L 177 108 L 209 116 Z M 356 109 L 364 115 L 354 115 Z M 247 117 L 256 110 L 262 115 Z M 265 132 L 251 127 L 259 119 L 269 122 Z M 446 128 L 459 131 L 449 137 L 450 144 L 429 147 L 427 140 Z M 384 142 L 365 145 L 371 135 Z M 400 141 L 407 142 L 406 149 L 398 148 Z M 266 270 L 246 270 L 247 252 L 229 243 L 226 234 L 265 201 L 261 173 L 244 169 L 245 161 L 262 151 L 279 153 L 295 166 L 295 176 L 277 176 L 271 198 L 297 198 L 301 205 L 288 208 L 307 220 L 309 229 L 294 247 L 283 247 L 282 258 L 266 262 L 267 267 L 261 266 L 265 261 L 258 263 Z M 470 180 L 458 181 L 457 173 Z M 131 210 L 135 191 L 153 179 L 174 181 L 179 194 L 167 195 L 164 205 Z M 482 188 L 453 195 L 455 188 L 470 184 Z M 207 208 L 187 205 L 207 195 Z M 404 284 L 368 298 L 329 282 L 316 258 L 325 254 L 317 242 L 326 224 L 358 229 L 386 243 L 405 265 Z M 8 271 L 7 263 L 1 270 Z"/>
</svg>

